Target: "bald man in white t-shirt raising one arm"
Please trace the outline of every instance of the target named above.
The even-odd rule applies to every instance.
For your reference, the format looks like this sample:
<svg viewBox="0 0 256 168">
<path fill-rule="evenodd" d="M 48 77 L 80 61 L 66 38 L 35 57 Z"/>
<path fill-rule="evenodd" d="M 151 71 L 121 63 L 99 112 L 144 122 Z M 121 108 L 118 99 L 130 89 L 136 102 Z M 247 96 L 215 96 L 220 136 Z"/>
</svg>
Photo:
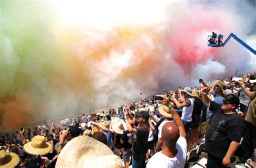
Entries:
<svg viewBox="0 0 256 168">
<path fill-rule="evenodd" d="M 163 96 L 163 95 L 162 95 Z M 159 141 L 163 150 L 156 153 L 149 162 L 147 168 L 155 167 L 184 167 L 187 153 L 186 132 L 178 113 L 172 107 L 168 97 L 165 100 L 164 109 L 172 115 L 174 122 L 164 124 Z M 168 107 L 167 107 L 168 106 Z M 169 110 L 166 110 L 168 108 Z"/>
</svg>

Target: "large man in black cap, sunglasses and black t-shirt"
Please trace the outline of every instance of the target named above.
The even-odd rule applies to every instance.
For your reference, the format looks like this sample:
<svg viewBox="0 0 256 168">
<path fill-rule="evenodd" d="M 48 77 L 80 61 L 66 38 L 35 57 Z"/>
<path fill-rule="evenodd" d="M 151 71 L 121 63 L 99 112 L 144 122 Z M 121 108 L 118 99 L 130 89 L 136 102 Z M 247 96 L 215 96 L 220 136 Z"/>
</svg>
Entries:
<svg viewBox="0 0 256 168">
<path fill-rule="evenodd" d="M 202 90 L 202 97 L 203 102 L 213 111 L 205 136 L 207 167 L 227 167 L 246 128 L 244 120 L 235 111 L 239 98 L 229 94 L 222 104 L 218 104 L 209 99 L 206 87 Z"/>
</svg>

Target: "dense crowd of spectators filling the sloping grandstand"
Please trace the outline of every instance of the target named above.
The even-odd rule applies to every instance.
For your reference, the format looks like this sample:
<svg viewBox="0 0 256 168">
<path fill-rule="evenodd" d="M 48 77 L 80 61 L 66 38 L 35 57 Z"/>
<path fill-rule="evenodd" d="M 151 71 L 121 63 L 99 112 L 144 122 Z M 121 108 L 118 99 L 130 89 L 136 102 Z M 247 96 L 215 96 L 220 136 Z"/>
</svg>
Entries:
<svg viewBox="0 0 256 168">
<path fill-rule="evenodd" d="M 255 74 L 198 84 L 117 111 L 21 127 L 2 136 L 0 167 L 184 167 L 199 138 L 207 167 L 227 167 L 234 155 L 255 167 Z"/>
</svg>

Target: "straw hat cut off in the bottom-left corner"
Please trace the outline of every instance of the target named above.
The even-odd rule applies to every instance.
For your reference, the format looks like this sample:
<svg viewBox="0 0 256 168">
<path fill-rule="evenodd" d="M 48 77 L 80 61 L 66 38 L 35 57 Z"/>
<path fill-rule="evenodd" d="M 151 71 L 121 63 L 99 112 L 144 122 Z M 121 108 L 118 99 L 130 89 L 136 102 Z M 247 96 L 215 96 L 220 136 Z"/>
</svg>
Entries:
<svg viewBox="0 0 256 168">
<path fill-rule="evenodd" d="M 19 157 L 14 152 L 0 150 L 0 167 L 15 167 L 19 163 Z"/>
</svg>

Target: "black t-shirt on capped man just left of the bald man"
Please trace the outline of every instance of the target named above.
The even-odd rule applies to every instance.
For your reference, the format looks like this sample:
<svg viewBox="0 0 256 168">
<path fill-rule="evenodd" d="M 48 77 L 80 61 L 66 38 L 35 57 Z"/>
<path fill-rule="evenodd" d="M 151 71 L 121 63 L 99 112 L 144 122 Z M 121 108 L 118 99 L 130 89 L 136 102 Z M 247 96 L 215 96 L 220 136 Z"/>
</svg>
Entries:
<svg viewBox="0 0 256 168">
<path fill-rule="evenodd" d="M 137 134 L 134 134 L 134 141 L 132 144 L 132 151 L 137 154 L 146 154 L 147 139 L 149 138 L 149 126 L 143 125 L 136 128 Z"/>
</svg>

